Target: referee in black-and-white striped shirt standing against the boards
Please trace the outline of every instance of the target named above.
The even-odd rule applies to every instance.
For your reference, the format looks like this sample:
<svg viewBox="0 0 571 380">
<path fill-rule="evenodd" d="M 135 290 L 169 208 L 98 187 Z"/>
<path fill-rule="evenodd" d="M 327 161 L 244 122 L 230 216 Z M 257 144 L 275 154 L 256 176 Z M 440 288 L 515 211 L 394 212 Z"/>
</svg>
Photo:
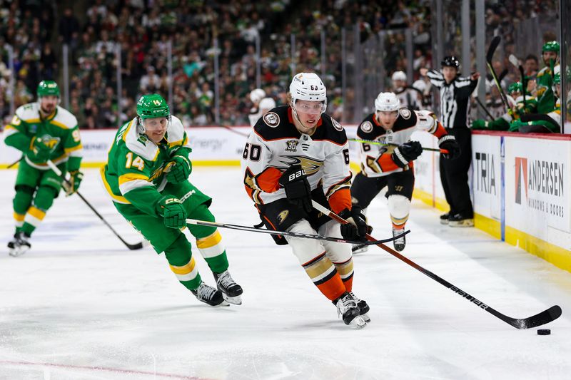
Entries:
<svg viewBox="0 0 571 380">
<path fill-rule="evenodd" d="M 420 69 L 428 76 L 430 83 L 440 90 L 439 120 L 449 135 L 455 136 L 460 144 L 460 157 L 447 160 L 440 155 L 440 180 L 444 188 L 450 212 L 440 216 L 440 222 L 450 227 L 472 227 L 474 210 L 470 200 L 468 170 L 472 162 L 472 138 L 468 128 L 470 94 L 477 86 L 479 73 L 469 77 L 458 76 L 460 61 L 455 56 L 442 60 L 442 71 Z"/>
</svg>

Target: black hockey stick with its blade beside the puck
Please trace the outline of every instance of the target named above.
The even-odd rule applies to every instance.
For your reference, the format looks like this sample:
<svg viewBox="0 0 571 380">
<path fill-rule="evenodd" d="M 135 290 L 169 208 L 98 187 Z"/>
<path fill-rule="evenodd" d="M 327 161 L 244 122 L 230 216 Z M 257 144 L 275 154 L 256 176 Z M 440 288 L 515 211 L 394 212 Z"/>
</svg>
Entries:
<svg viewBox="0 0 571 380">
<path fill-rule="evenodd" d="M 312 202 L 313 202 L 313 207 L 315 207 L 316 210 L 323 212 L 323 214 L 328 215 L 331 219 L 337 220 L 341 224 L 347 224 L 348 223 L 347 220 L 344 220 L 339 215 L 336 215 L 335 213 L 331 212 L 330 210 L 327 210 L 325 207 L 320 205 L 318 202 L 315 202 L 315 201 L 312 201 Z M 368 234 L 367 234 L 367 239 L 368 240 L 374 240 L 373 237 L 371 237 Z M 443 279 L 441 277 L 438 277 L 433 272 L 430 272 L 430 270 L 421 267 L 420 265 L 416 264 L 415 262 L 408 259 L 407 257 L 400 255 L 400 253 L 396 252 L 395 250 L 392 250 L 391 248 L 387 247 L 386 245 L 379 244 L 378 247 L 381 247 L 383 250 L 390 253 L 390 255 L 393 255 L 398 260 L 401 260 L 401 261 L 407 263 L 411 267 L 417 269 L 419 272 L 426 274 L 431 279 L 433 279 L 436 282 L 444 285 L 448 289 L 450 289 L 453 292 L 455 292 L 456 294 L 460 295 L 460 297 L 462 297 L 463 299 L 467 299 L 469 302 L 475 304 L 480 309 L 484 309 L 486 312 L 492 314 L 494 317 L 502 319 L 502 321 L 506 322 L 507 324 L 511 324 L 516 329 L 530 329 L 532 327 L 541 326 L 542 324 L 547 324 L 549 322 L 552 322 L 561 316 L 561 307 L 559 307 L 558 305 L 555 305 L 555 306 L 552 306 L 543 312 L 540 312 L 539 314 L 535 314 L 532 317 L 521 318 L 521 319 L 507 317 L 507 315 L 502 314 L 500 312 L 497 312 L 495 309 L 492 309 L 492 307 L 488 306 L 484 302 L 473 297 L 472 295 L 468 294 L 467 292 L 464 292 L 462 289 L 455 287 L 453 284 L 450 284 L 450 282 L 446 281 L 445 279 Z"/>
</svg>

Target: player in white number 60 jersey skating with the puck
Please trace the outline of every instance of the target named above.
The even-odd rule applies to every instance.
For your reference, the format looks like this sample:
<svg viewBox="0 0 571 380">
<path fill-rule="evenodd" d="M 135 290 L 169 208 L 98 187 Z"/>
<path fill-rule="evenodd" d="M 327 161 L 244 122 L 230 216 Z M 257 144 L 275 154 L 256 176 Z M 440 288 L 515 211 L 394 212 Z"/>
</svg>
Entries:
<svg viewBox="0 0 571 380">
<path fill-rule="evenodd" d="M 298 73 L 290 83 L 288 106 L 273 108 L 258 120 L 243 151 L 248 195 L 268 229 L 348 240 L 368 231 L 359 207 L 350 199 L 349 148 L 343 127 L 325 112 L 325 86 L 315 73 Z M 313 210 L 315 200 L 350 223 L 340 225 Z M 274 237 L 289 244 L 316 287 L 343 316 L 358 327 L 370 319 L 369 307 L 353 294 L 350 245 Z"/>
</svg>

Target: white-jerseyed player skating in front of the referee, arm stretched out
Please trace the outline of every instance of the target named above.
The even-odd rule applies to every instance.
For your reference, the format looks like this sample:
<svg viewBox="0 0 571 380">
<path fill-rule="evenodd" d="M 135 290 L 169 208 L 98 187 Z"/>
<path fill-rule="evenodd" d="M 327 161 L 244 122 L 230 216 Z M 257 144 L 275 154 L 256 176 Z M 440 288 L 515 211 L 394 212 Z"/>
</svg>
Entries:
<svg viewBox="0 0 571 380">
<path fill-rule="evenodd" d="M 357 129 L 358 139 L 387 145 L 360 144 L 361 171 L 351 186 L 353 207 L 365 209 L 386 187 L 393 236 L 405 230 L 415 184 L 413 161 L 423 153 L 420 143 L 410 140 L 415 130 L 424 130 L 438 138 L 438 146 L 448 150 L 445 158 L 453 159 L 460 154 L 454 136 L 446 133 L 433 113 L 400 106 L 394 93 L 379 93 L 375 113 L 368 115 Z M 398 251 L 404 250 L 405 244 L 404 236 L 393 241 Z"/>
</svg>

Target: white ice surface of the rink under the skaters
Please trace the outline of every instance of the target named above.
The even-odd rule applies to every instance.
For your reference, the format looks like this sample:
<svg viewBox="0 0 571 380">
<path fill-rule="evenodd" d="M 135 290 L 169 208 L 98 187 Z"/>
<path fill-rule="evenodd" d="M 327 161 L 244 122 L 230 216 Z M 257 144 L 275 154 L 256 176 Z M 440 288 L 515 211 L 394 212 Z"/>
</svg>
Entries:
<svg viewBox="0 0 571 380">
<path fill-rule="evenodd" d="M 0 379 L 571 379 L 571 273 L 480 230 L 441 226 L 420 202 L 405 256 L 510 317 L 559 304 L 550 336 L 511 327 L 378 247 L 355 255 L 355 293 L 372 321 L 351 329 L 288 247 L 235 230 L 221 233 L 243 304 L 211 308 L 163 255 L 127 250 L 76 196 L 57 199 L 32 250 L 9 257 L 15 175 L 0 171 Z M 238 168 L 195 168 L 191 180 L 219 222 L 258 222 Z M 141 241 L 96 170 L 80 191 Z M 388 237 L 384 198 L 368 215 L 373 236 Z"/>
</svg>

